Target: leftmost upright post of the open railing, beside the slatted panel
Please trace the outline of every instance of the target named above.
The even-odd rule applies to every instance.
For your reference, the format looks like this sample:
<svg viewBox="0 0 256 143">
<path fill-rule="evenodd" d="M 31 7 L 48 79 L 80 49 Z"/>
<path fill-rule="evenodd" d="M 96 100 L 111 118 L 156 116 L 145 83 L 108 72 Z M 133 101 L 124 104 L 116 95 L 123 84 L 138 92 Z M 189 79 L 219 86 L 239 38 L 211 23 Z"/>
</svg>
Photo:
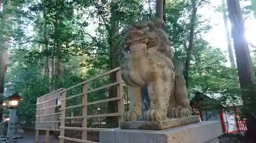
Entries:
<svg viewBox="0 0 256 143">
<path fill-rule="evenodd" d="M 66 99 L 66 96 L 67 96 L 67 92 L 62 92 L 61 93 L 61 98 L 62 99 Z M 60 126 L 65 126 L 65 116 L 66 116 L 66 100 L 62 101 L 61 102 L 61 107 L 62 107 L 62 110 L 61 110 L 61 122 L 60 122 Z M 65 130 L 64 129 L 61 129 L 60 130 L 60 136 L 65 136 Z M 59 139 L 59 143 L 65 143 L 65 140 L 63 138 L 60 138 Z"/>
</svg>

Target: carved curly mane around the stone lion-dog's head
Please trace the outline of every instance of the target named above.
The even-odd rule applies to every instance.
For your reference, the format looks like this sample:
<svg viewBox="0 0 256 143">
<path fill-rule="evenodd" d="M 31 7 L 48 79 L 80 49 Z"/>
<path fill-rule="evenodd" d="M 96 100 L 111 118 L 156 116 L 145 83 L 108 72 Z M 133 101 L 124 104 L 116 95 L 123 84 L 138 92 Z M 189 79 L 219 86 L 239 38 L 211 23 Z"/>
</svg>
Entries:
<svg viewBox="0 0 256 143">
<path fill-rule="evenodd" d="M 119 48 L 119 61 L 122 61 L 126 52 L 127 43 L 132 41 L 138 41 L 139 38 L 147 38 L 148 48 L 155 48 L 160 53 L 164 53 L 168 58 L 172 59 L 172 49 L 171 43 L 168 39 L 168 35 L 164 32 L 165 23 L 162 19 L 156 18 L 152 21 L 143 20 L 137 21 L 130 26 L 124 28 L 121 31 L 121 36 L 123 38 L 120 43 Z M 131 36 L 131 32 L 134 31 L 134 35 Z M 138 32 L 141 31 L 141 35 L 138 35 Z M 130 35 L 127 35 L 130 33 Z M 158 39 L 158 40 L 157 40 Z M 159 45 L 158 45 L 159 43 Z"/>
</svg>

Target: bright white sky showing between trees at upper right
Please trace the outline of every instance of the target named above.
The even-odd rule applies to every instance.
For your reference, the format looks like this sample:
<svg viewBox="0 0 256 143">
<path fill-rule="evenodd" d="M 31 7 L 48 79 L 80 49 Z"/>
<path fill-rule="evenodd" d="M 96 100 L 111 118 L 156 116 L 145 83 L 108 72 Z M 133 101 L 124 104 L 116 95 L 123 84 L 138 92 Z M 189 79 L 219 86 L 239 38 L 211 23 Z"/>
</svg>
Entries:
<svg viewBox="0 0 256 143">
<path fill-rule="evenodd" d="M 202 18 L 210 18 L 210 23 L 214 25 L 209 33 L 205 34 L 205 40 L 211 43 L 212 46 L 221 48 L 223 51 L 227 52 L 227 41 L 225 35 L 225 26 L 223 22 L 223 17 L 220 12 L 216 12 L 216 7 L 220 6 L 222 3 L 221 0 L 211 1 L 211 5 L 209 7 L 203 7 L 198 10 L 199 14 L 203 14 Z M 250 1 L 241 2 L 241 6 L 245 7 L 250 5 Z M 256 45 L 256 20 L 253 18 L 251 14 L 249 17 L 245 19 L 245 37 L 248 43 L 252 43 Z M 231 31 L 231 25 L 228 23 L 229 31 Z M 228 54 L 226 53 L 227 58 Z M 227 63 L 227 66 L 230 66 L 230 63 Z"/>
</svg>

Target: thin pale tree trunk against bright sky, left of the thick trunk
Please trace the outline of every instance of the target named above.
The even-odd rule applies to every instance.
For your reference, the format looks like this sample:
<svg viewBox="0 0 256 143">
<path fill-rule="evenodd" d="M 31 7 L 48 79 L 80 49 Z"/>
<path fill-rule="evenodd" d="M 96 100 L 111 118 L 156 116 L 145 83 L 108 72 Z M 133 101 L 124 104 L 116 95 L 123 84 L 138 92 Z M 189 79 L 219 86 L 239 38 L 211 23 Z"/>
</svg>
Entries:
<svg viewBox="0 0 256 143">
<path fill-rule="evenodd" d="M 232 45 L 231 45 L 231 38 L 227 26 L 227 13 L 226 13 L 226 3 L 225 0 L 222 0 L 222 15 L 223 15 L 223 21 L 224 21 L 224 26 L 225 26 L 225 32 L 226 32 L 226 40 L 227 40 L 227 50 L 228 50 L 228 55 L 229 55 L 229 61 L 231 63 L 232 68 L 236 68 L 236 63 L 234 63 L 234 55 L 233 55 L 233 50 L 232 50 Z"/>
</svg>

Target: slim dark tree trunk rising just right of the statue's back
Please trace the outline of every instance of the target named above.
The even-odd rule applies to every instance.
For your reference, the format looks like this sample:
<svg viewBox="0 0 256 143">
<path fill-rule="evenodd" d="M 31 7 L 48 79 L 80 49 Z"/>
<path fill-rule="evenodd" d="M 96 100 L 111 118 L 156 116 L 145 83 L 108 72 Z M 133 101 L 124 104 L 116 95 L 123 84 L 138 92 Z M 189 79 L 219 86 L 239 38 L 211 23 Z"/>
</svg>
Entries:
<svg viewBox="0 0 256 143">
<path fill-rule="evenodd" d="M 191 54 L 193 50 L 193 42 L 194 42 L 194 31 L 195 31 L 195 24 L 196 24 L 196 14 L 197 14 L 197 7 L 196 7 L 196 0 L 191 0 L 192 4 L 192 15 L 190 19 L 190 32 L 189 32 L 189 44 L 187 48 L 187 54 L 186 54 L 186 62 L 184 67 L 184 78 L 186 80 L 186 87 L 189 89 L 189 82 L 188 82 L 188 74 L 189 74 L 189 65 L 191 60 Z"/>
</svg>

